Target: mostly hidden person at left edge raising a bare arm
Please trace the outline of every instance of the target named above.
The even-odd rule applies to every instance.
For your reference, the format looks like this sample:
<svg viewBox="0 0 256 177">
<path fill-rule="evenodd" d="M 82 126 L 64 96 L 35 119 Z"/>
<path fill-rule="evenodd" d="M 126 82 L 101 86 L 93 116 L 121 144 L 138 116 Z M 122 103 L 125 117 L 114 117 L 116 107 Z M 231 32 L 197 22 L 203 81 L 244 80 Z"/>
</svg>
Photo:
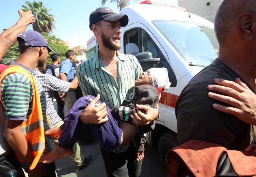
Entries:
<svg viewBox="0 0 256 177">
<path fill-rule="evenodd" d="M 31 10 L 26 12 L 19 10 L 20 19 L 9 29 L 0 34 L 0 60 L 8 49 L 17 41 L 17 36 L 31 23 L 34 23 L 35 16 Z M 0 64 L 0 74 L 6 69 L 6 65 Z M 2 105 L 0 105 L 0 134 L 3 135 L 6 118 Z M 7 143 L 4 136 L 0 136 L 0 176 L 24 177 L 23 170 L 14 156 L 12 148 Z"/>
</svg>

